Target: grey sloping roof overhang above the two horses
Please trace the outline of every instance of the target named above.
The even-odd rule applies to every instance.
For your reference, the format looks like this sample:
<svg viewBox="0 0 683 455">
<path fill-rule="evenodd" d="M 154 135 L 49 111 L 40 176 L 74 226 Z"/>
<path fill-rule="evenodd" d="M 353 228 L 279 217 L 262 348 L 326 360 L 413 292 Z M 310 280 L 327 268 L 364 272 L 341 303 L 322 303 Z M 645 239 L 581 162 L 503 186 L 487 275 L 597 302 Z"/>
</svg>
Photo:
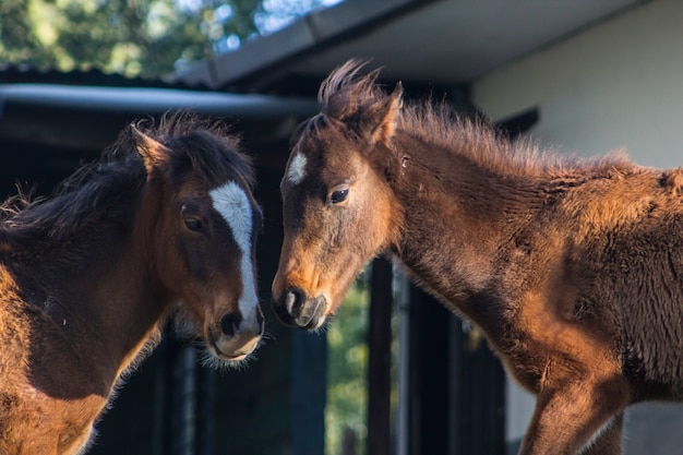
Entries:
<svg viewBox="0 0 683 455">
<path fill-rule="evenodd" d="M 467 84 L 644 0 L 346 0 L 178 74 L 188 84 L 267 88 L 371 58 L 393 79 Z"/>
</svg>

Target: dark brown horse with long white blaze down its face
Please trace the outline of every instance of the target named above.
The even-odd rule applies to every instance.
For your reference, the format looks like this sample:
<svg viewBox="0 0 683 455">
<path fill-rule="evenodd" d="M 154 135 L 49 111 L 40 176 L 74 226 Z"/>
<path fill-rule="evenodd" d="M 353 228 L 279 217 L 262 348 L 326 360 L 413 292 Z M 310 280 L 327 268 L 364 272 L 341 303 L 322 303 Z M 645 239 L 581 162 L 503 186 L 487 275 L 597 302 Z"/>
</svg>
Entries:
<svg viewBox="0 0 683 455">
<path fill-rule="evenodd" d="M 252 180 L 236 139 L 176 115 L 128 128 L 53 197 L 5 204 L 0 454 L 85 450 L 176 309 L 216 363 L 256 347 Z"/>
</svg>

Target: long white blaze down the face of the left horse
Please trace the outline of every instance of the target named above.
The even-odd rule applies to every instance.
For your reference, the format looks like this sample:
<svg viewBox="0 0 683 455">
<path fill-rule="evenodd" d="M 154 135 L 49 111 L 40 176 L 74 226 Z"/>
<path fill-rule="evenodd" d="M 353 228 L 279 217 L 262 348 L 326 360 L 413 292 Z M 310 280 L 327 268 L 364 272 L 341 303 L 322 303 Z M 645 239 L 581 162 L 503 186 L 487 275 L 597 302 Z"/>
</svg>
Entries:
<svg viewBox="0 0 683 455">
<path fill-rule="evenodd" d="M 254 267 L 251 263 L 253 214 L 249 197 L 244 190 L 235 182 L 228 182 L 212 190 L 209 195 L 214 203 L 214 208 L 225 218 L 230 230 L 232 230 L 232 237 L 235 237 L 235 241 L 242 253 L 240 263 L 242 273 L 242 295 L 239 300 L 240 312 L 244 320 L 255 319 L 259 298 L 256 297 L 254 285 Z"/>
</svg>

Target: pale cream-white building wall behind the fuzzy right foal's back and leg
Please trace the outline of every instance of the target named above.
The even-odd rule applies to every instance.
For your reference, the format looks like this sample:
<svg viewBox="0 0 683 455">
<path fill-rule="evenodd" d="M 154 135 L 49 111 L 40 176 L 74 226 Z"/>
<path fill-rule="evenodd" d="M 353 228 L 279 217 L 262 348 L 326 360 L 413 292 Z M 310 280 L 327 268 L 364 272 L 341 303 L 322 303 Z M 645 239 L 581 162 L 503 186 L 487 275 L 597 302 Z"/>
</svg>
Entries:
<svg viewBox="0 0 683 455">
<path fill-rule="evenodd" d="M 656 0 L 588 27 L 479 79 L 472 97 L 494 121 L 537 106 L 530 135 L 562 152 L 625 148 L 640 165 L 683 166 L 683 1 Z M 532 406 L 508 387 L 508 439 L 523 435 Z M 638 448 L 661 430 L 642 429 L 643 421 L 662 412 L 683 418 L 654 405 L 630 411 L 628 453 L 666 452 Z M 683 426 L 674 428 L 656 436 L 681 439 Z"/>
</svg>

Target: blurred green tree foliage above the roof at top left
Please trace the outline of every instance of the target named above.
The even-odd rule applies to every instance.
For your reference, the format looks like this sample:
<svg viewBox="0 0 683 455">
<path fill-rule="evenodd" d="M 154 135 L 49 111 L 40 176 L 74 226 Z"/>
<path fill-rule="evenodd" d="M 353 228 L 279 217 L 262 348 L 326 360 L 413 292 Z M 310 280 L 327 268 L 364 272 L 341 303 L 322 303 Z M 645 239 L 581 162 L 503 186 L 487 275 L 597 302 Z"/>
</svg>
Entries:
<svg viewBox="0 0 683 455">
<path fill-rule="evenodd" d="M 323 3 L 331 2 L 2 0 L 0 63 L 156 79 Z"/>
</svg>

